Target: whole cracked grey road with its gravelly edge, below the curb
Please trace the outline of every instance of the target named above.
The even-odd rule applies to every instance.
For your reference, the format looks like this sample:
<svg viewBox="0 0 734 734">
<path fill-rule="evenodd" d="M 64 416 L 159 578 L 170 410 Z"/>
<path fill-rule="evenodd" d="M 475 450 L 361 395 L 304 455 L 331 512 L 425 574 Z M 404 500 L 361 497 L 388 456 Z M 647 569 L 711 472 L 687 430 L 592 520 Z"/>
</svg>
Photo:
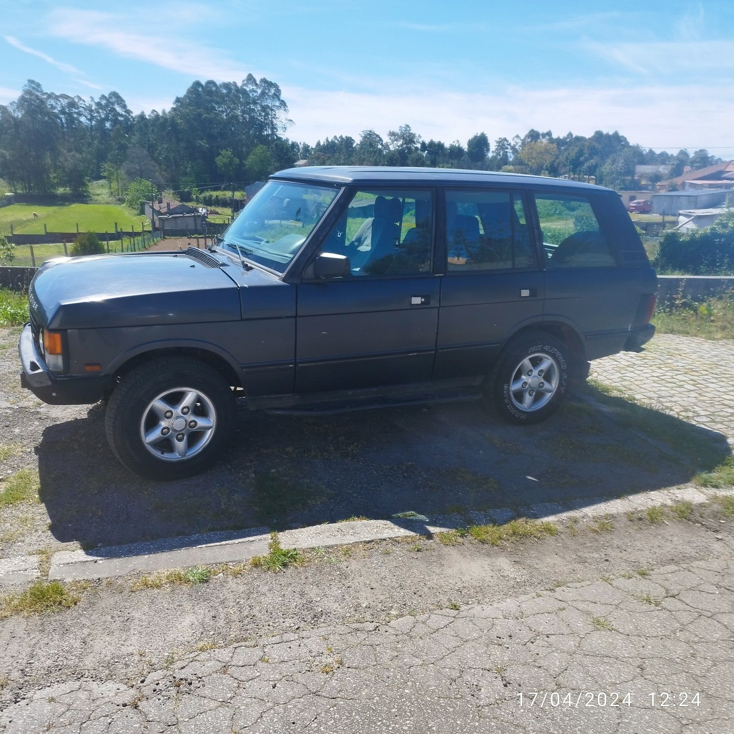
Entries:
<svg viewBox="0 0 734 734">
<path fill-rule="evenodd" d="M 614 526 L 99 583 L 0 624 L 0 732 L 729 734 L 734 523 Z"/>
</svg>

